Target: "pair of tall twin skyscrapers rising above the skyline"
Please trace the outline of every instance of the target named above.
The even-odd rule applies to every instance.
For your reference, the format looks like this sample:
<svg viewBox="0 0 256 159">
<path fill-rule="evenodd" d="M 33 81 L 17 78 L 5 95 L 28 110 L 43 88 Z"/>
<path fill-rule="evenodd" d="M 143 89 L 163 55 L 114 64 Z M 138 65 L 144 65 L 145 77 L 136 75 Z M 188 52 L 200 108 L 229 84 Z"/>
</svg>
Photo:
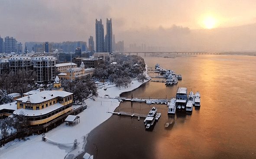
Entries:
<svg viewBox="0 0 256 159">
<path fill-rule="evenodd" d="M 104 38 L 104 26 L 102 20 L 96 19 L 96 53 L 112 53 L 112 21 L 107 19 L 107 33 Z"/>
</svg>

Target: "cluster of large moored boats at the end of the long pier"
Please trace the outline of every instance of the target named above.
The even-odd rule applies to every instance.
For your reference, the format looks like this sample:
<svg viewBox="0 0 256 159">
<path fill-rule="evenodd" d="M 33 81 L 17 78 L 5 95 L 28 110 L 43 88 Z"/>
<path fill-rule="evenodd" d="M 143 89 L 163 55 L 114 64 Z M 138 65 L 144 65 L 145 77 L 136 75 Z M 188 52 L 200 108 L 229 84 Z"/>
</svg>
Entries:
<svg viewBox="0 0 256 159">
<path fill-rule="evenodd" d="M 176 110 L 192 113 L 193 106 L 200 107 L 200 94 L 192 91 L 187 93 L 187 88 L 178 87 L 176 98 L 172 98 L 168 103 L 168 114 L 175 115 Z"/>
</svg>

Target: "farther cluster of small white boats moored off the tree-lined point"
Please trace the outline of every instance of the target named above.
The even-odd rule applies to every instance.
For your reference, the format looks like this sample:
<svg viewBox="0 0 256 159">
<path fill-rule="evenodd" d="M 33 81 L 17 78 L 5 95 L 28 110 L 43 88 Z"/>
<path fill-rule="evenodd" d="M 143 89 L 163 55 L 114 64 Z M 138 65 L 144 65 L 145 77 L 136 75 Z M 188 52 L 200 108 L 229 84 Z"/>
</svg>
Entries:
<svg viewBox="0 0 256 159">
<path fill-rule="evenodd" d="M 177 84 L 178 80 L 182 79 L 181 75 L 175 74 L 173 70 L 164 69 L 163 67 L 160 67 L 159 64 L 156 64 L 155 69 L 157 73 L 163 74 L 163 76 L 165 76 L 165 85 Z"/>
</svg>

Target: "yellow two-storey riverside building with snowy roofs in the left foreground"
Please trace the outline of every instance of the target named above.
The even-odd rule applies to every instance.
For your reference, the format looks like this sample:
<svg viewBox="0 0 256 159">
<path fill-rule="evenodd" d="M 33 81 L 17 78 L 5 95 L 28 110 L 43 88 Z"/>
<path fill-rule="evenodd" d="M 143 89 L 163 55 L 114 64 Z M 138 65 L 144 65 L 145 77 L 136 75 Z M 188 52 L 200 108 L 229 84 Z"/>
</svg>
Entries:
<svg viewBox="0 0 256 159">
<path fill-rule="evenodd" d="M 72 110 L 73 93 L 45 90 L 16 101 L 14 115 L 22 113 L 30 125 L 42 125 Z"/>
</svg>

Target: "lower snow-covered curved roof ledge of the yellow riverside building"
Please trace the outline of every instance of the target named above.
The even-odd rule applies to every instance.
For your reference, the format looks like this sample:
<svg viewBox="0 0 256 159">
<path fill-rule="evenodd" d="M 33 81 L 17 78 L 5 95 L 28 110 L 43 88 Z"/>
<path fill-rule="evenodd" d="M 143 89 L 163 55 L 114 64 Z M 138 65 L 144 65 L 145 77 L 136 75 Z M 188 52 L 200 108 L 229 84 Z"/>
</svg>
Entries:
<svg viewBox="0 0 256 159">
<path fill-rule="evenodd" d="M 53 104 L 52 106 L 48 106 L 44 109 L 39 110 L 30 110 L 30 109 L 17 109 L 13 112 L 13 114 L 19 114 L 21 111 L 25 113 L 26 116 L 36 116 L 36 115 L 43 115 L 47 114 L 49 112 L 54 111 L 55 109 L 58 109 L 62 107 L 63 105 L 61 103 Z"/>
</svg>

